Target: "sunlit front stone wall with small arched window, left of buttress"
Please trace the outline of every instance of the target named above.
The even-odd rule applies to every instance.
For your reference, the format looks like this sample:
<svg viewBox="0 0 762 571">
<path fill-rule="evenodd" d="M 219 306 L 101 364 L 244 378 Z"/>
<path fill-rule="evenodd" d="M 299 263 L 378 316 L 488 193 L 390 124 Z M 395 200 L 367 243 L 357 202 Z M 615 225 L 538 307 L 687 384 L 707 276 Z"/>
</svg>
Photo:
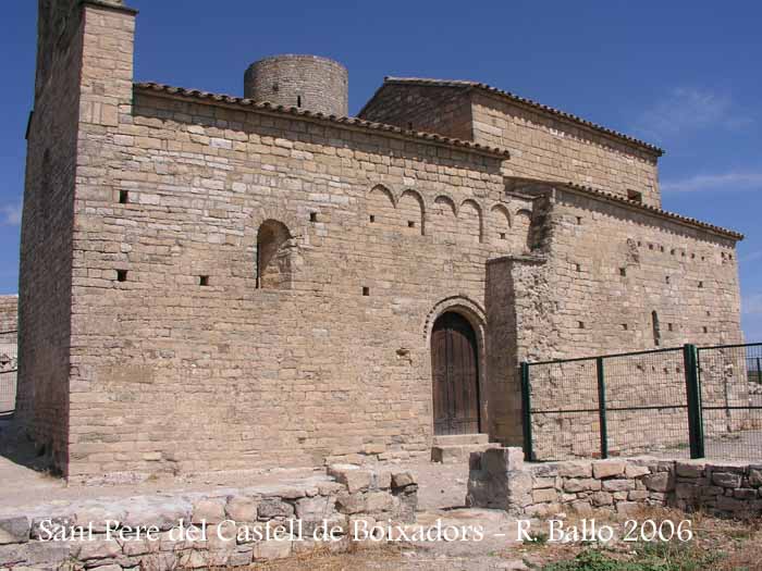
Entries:
<svg viewBox="0 0 762 571">
<path fill-rule="evenodd" d="M 511 221 L 531 201 L 503 196 L 492 156 L 133 94 L 132 20 L 99 18 L 83 89 L 108 98 L 81 125 L 70 476 L 426 454 L 429 330 L 447 309 L 483 328 L 484 263 L 526 249 Z M 268 220 L 290 235 L 279 288 L 257 287 Z"/>
</svg>

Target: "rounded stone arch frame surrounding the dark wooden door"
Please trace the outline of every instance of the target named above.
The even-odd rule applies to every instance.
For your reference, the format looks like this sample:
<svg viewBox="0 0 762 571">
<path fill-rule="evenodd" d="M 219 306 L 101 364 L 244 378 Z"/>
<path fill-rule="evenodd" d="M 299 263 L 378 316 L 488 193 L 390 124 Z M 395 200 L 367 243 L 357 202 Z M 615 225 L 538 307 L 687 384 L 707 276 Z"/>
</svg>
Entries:
<svg viewBox="0 0 762 571">
<path fill-rule="evenodd" d="M 478 393 L 479 393 L 479 434 L 489 434 L 490 432 L 490 415 L 489 415 L 489 392 L 487 387 L 487 355 L 486 355 L 486 313 L 482 307 L 465 296 L 453 296 L 443 299 L 434 306 L 426 319 L 426 373 L 429 387 L 429 430 L 432 438 L 434 436 L 434 386 L 433 371 L 431 369 L 431 337 L 434 331 L 434 322 L 443 314 L 454 312 L 458 313 L 468 321 L 476 334 L 477 343 L 477 373 L 478 373 Z"/>
</svg>

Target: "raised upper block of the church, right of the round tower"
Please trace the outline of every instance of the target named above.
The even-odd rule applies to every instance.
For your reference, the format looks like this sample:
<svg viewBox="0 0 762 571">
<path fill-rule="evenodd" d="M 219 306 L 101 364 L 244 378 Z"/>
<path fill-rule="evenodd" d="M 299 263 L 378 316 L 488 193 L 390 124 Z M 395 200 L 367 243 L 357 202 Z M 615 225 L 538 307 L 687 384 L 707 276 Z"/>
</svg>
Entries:
<svg viewBox="0 0 762 571">
<path fill-rule="evenodd" d="M 467 86 L 384 84 L 361 111 L 369 121 L 511 151 L 506 176 L 574 182 L 661 206 L 655 151 Z"/>
</svg>

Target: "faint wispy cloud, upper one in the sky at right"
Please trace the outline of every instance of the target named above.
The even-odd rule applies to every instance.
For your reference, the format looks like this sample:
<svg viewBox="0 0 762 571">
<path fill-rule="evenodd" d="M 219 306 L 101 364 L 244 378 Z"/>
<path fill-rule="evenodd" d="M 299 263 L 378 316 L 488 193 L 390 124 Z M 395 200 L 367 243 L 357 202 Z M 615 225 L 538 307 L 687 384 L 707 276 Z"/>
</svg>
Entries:
<svg viewBox="0 0 762 571">
<path fill-rule="evenodd" d="M 632 129 L 643 138 L 662 141 L 696 129 L 736 129 L 750 123 L 751 119 L 737 113 L 728 95 L 676 88 L 644 111 Z"/>
</svg>

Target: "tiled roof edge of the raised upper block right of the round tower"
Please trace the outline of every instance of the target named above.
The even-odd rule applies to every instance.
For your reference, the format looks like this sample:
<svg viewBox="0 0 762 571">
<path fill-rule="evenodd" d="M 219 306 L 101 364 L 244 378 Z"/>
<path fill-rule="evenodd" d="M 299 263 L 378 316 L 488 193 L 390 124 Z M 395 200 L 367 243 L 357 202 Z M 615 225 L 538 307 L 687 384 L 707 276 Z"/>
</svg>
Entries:
<svg viewBox="0 0 762 571">
<path fill-rule="evenodd" d="M 586 119 L 582 119 L 580 116 L 574 115 L 572 113 L 567 113 L 565 111 L 561 111 L 560 109 L 555 109 L 542 103 L 539 103 L 537 101 L 533 101 L 531 99 L 527 99 L 526 97 L 520 97 L 517 96 L 516 94 L 512 94 L 509 91 L 504 91 L 502 89 L 497 89 L 496 87 L 492 87 L 487 84 L 482 84 L 479 82 L 469 82 L 469 80 L 462 80 L 462 79 L 431 79 L 431 78 L 426 78 L 426 77 L 384 77 L 383 78 L 383 84 L 379 89 L 373 94 L 373 97 L 368 100 L 368 102 L 362 107 L 362 110 L 359 112 L 359 115 L 362 114 L 365 109 L 370 104 L 370 102 L 376 98 L 376 96 L 379 94 L 379 91 L 383 88 L 385 85 L 390 84 L 403 84 L 403 85 L 432 85 L 432 86 L 441 86 L 441 87 L 462 87 L 462 88 L 471 88 L 471 89 L 479 89 L 481 91 L 486 91 L 492 95 L 496 95 L 500 97 L 504 97 L 506 99 L 509 99 L 511 101 L 515 103 L 519 103 L 529 108 L 532 108 L 538 111 L 542 111 L 544 113 L 550 113 L 552 115 L 556 115 L 558 117 L 565 119 L 567 121 L 572 121 L 574 123 L 578 123 L 580 125 L 583 125 L 590 129 L 598 131 L 600 133 L 603 133 L 605 135 L 609 135 L 610 137 L 614 137 L 616 139 L 624 140 L 630 145 L 636 145 L 638 147 L 641 147 L 643 149 L 647 149 L 648 151 L 661 157 L 664 154 L 664 149 L 661 149 L 656 147 L 655 145 L 651 145 L 650 142 L 646 142 L 644 140 L 637 139 L 635 137 L 630 137 L 629 135 L 625 135 L 624 133 L 619 133 L 618 131 L 610 129 L 609 127 L 604 127 L 603 125 L 599 125 L 598 123 L 593 123 L 591 121 L 588 121 Z"/>
</svg>

